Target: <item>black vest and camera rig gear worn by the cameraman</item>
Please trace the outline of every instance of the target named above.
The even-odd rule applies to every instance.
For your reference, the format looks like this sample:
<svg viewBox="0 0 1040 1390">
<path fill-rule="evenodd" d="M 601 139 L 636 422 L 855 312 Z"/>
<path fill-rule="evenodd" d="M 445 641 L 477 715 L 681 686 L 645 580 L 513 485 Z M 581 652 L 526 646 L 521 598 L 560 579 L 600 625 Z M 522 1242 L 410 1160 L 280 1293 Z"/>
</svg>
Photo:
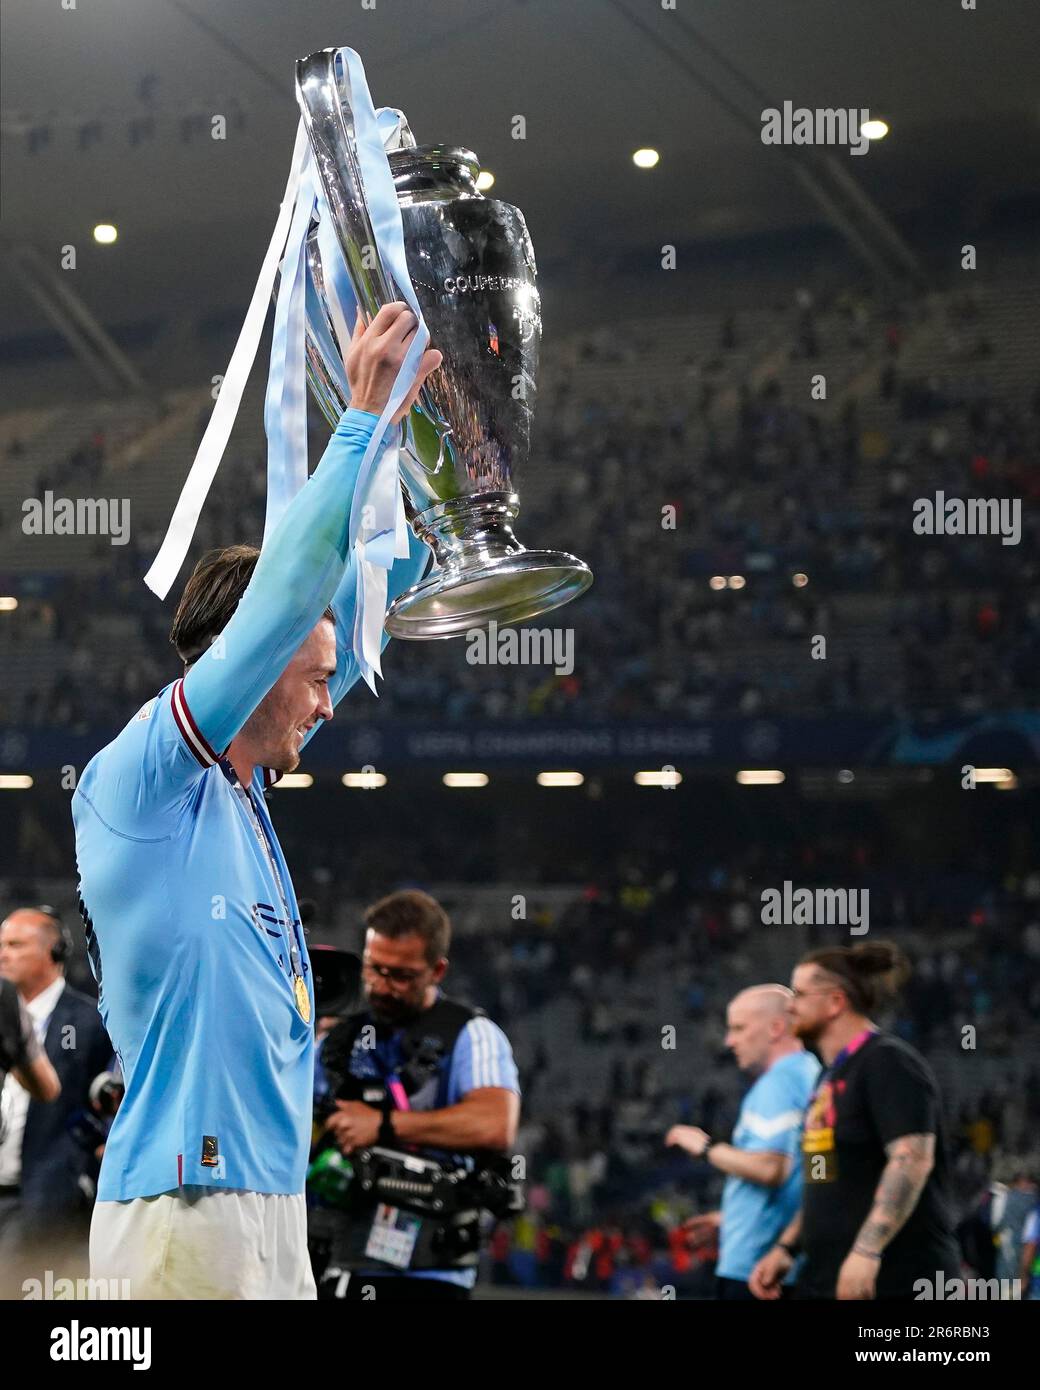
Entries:
<svg viewBox="0 0 1040 1390">
<path fill-rule="evenodd" d="M 467 1269 L 477 1264 L 481 1213 L 503 1218 L 523 1208 L 502 1154 L 409 1147 L 395 1141 L 395 1109 L 444 1108 L 456 1040 L 481 1016 L 441 995 L 403 1027 L 381 1027 L 367 1011 L 336 1024 L 321 1048 L 328 1099 L 361 1101 L 382 1111 L 377 1143 L 345 1158 L 323 1144 L 307 1175 L 311 1198 L 332 1208 L 330 1266 L 381 1272 Z M 395 1054 L 395 1062 L 388 1061 Z"/>
</svg>

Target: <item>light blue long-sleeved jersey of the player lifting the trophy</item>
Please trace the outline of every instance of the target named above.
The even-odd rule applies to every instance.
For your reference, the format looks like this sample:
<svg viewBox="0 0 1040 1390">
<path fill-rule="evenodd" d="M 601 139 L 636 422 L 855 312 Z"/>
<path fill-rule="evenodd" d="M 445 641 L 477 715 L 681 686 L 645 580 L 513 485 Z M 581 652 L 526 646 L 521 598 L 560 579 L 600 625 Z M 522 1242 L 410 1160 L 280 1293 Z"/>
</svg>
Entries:
<svg viewBox="0 0 1040 1390">
<path fill-rule="evenodd" d="M 90 966 L 127 1086 L 101 1201 L 181 1186 L 303 1191 L 314 1030 L 293 965 L 313 1019 L 310 962 L 264 803 L 277 778 L 257 767 L 243 790 L 225 755 L 330 603 L 332 703 L 359 677 L 348 521 L 375 420 L 346 411 L 222 641 L 90 760 L 72 798 Z M 409 545 L 388 600 L 425 566 L 425 545 Z"/>
</svg>

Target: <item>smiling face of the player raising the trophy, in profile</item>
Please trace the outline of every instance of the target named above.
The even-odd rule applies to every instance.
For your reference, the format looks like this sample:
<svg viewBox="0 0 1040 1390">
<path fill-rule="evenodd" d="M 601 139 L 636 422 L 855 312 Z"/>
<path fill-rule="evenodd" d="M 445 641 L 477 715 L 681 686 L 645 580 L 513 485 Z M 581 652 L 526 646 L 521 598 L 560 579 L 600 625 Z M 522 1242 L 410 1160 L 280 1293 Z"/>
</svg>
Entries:
<svg viewBox="0 0 1040 1390">
<path fill-rule="evenodd" d="M 328 619 L 300 645 L 246 720 L 239 738 L 261 767 L 293 771 L 307 730 L 332 719 L 328 680 L 336 669 L 336 634 Z"/>
</svg>

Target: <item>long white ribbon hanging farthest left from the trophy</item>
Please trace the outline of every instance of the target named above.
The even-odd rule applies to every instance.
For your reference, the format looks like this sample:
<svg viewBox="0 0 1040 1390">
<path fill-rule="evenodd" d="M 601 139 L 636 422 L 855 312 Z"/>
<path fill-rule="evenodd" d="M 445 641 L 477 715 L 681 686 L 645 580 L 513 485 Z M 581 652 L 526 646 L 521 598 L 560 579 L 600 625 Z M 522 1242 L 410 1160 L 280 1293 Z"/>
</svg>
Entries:
<svg viewBox="0 0 1040 1390">
<path fill-rule="evenodd" d="M 260 346 L 264 322 L 267 321 L 267 311 L 271 304 L 274 277 L 278 272 L 278 260 L 292 222 L 296 192 L 309 160 L 310 146 L 307 143 L 307 132 L 303 126 L 303 118 L 300 118 L 300 122 L 296 126 L 296 145 L 292 152 L 289 178 L 285 185 L 285 193 L 282 195 L 278 220 L 275 222 L 274 232 L 271 234 L 267 254 L 264 256 L 263 265 L 260 267 L 260 278 L 256 282 L 256 289 L 253 291 L 253 297 L 249 303 L 245 322 L 242 324 L 242 331 L 238 335 L 235 350 L 231 354 L 228 370 L 217 395 L 217 404 L 214 406 L 213 414 L 206 425 L 206 432 L 202 436 L 199 450 L 195 456 L 195 463 L 192 464 L 184 488 L 181 489 L 181 496 L 178 498 L 177 507 L 174 509 L 174 514 L 170 520 L 170 527 L 163 545 L 159 549 L 159 555 L 152 562 L 152 567 L 145 575 L 145 584 L 147 584 L 152 592 L 157 594 L 160 599 L 167 596 L 170 587 L 185 562 L 185 556 L 188 555 L 188 549 L 192 543 L 192 537 L 195 535 L 195 528 L 199 524 L 199 516 L 202 513 L 203 503 L 206 502 L 206 495 L 210 491 L 213 478 L 220 467 L 220 460 L 222 459 L 224 450 L 228 445 L 231 430 L 242 403 L 242 393 L 246 388 L 246 381 L 249 379 L 253 361 L 256 360 L 257 348 Z"/>
</svg>

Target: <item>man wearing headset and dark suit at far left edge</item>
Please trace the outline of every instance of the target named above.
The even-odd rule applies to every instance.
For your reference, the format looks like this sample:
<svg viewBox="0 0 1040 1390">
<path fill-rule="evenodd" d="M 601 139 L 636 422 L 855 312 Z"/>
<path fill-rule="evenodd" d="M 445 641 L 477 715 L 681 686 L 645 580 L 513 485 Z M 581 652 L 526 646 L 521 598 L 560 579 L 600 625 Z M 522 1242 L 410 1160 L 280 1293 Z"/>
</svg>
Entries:
<svg viewBox="0 0 1040 1390">
<path fill-rule="evenodd" d="M 97 1161 L 70 1122 L 90 1111 L 90 1083 L 107 1070 L 113 1048 L 95 1001 L 65 983 L 71 951 L 68 929 L 50 906 L 15 908 L 0 923 L 0 977 L 18 990 L 61 1083 L 53 1104 L 31 1098 L 13 1076 L 3 1086 L 3 1265 L 44 1251 L 79 1264 L 86 1252 Z"/>
</svg>

